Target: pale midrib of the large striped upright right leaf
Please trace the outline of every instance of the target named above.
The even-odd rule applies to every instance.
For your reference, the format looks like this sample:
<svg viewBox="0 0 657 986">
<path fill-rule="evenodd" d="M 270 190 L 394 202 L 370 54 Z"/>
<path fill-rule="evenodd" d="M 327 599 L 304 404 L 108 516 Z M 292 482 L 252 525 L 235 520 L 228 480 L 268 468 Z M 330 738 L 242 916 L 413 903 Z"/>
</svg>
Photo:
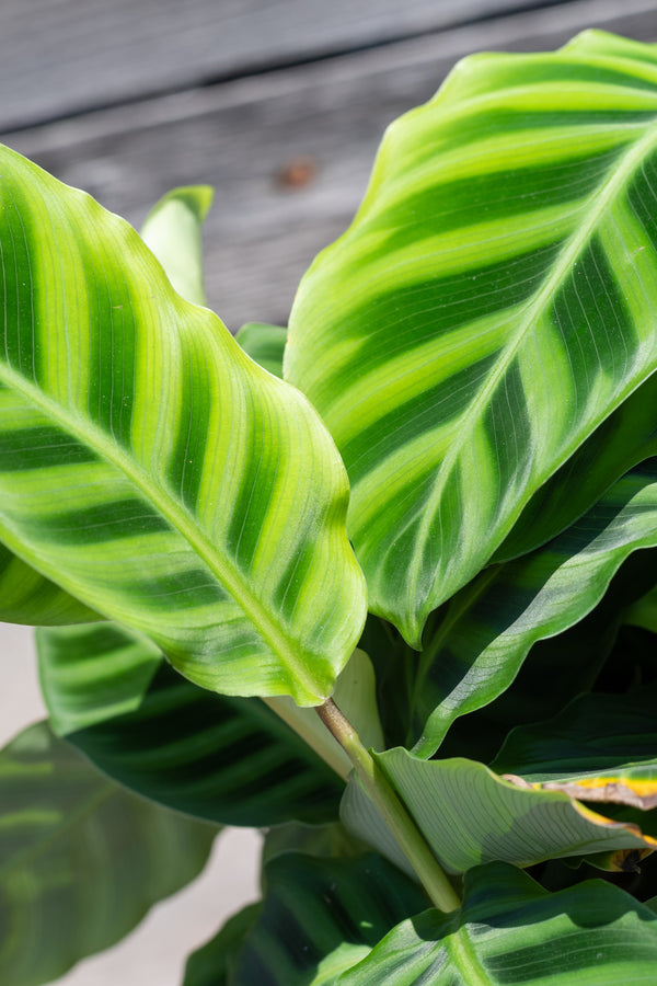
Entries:
<svg viewBox="0 0 657 986">
<path fill-rule="evenodd" d="M 655 121 L 649 127 L 646 127 L 646 134 L 638 141 L 630 147 L 623 156 L 621 163 L 616 164 L 611 175 L 608 175 L 598 187 L 590 194 L 589 203 L 591 207 L 587 210 L 587 219 L 581 226 L 574 231 L 568 238 L 554 264 L 550 275 L 543 280 L 543 284 L 534 294 L 534 296 L 526 305 L 526 316 L 520 321 L 518 330 L 514 339 L 504 349 L 503 355 L 491 370 L 487 381 L 477 391 L 475 398 L 470 403 L 468 410 L 459 419 L 459 428 L 456 432 L 454 440 L 450 445 L 449 450 L 440 463 L 440 468 L 436 473 L 434 489 L 425 502 L 422 519 L 418 528 L 417 540 L 424 543 L 428 537 L 428 529 L 433 524 L 445 484 L 451 474 L 453 465 L 461 454 L 465 440 L 472 433 L 472 423 L 476 421 L 488 405 L 489 399 L 497 389 L 506 371 L 511 365 L 518 349 L 525 342 L 528 332 L 534 323 L 537 311 L 546 307 L 548 300 L 556 294 L 562 286 L 564 279 L 573 270 L 574 261 L 580 255 L 581 251 L 589 242 L 593 230 L 599 225 L 601 217 L 609 207 L 610 198 L 615 200 L 620 190 L 625 185 L 636 172 L 636 168 L 647 156 L 648 150 L 657 145 L 657 126 Z M 610 409 L 611 411 L 612 409 Z M 564 454 L 565 458 L 565 454 Z M 556 463 L 558 466 L 558 463 Z M 522 504 L 519 503 L 518 509 Z M 408 572 L 408 599 L 418 598 L 417 581 L 419 570 L 417 565 L 413 565 Z"/>
</svg>

